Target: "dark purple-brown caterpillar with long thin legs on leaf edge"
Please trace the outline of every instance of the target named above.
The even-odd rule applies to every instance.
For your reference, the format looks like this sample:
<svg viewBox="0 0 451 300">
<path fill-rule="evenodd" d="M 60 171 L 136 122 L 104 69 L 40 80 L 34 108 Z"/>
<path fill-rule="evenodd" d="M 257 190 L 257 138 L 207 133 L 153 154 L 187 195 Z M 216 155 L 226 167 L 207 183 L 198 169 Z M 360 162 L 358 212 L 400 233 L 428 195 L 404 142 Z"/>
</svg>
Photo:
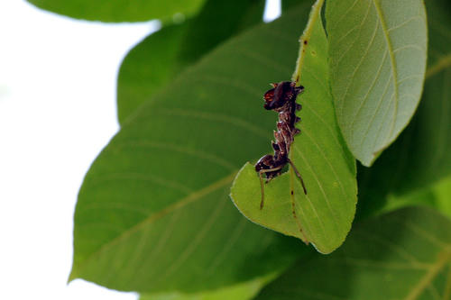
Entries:
<svg viewBox="0 0 451 300">
<path fill-rule="evenodd" d="M 255 164 L 255 171 L 259 174 L 262 188 L 260 209 L 263 208 L 264 202 L 262 174 L 266 175 L 266 183 L 268 183 L 272 178 L 281 175 L 282 168 L 287 164 L 290 164 L 296 176 L 299 177 L 304 194 L 307 195 L 304 180 L 302 180 L 298 169 L 289 159 L 291 143 L 294 141 L 294 136 L 300 132 L 295 127 L 295 124 L 300 121 L 300 118 L 296 116 L 296 111 L 301 109 L 301 105 L 296 103 L 296 97 L 302 93 L 304 87 L 296 86 L 296 83 L 291 81 L 282 81 L 278 84 L 272 84 L 272 86 L 273 88 L 263 95 L 263 107 L 267 110 L 278 112 L 279 121 L 277 122 L 277 132 L 274 131 L 275 141 L 272 141 L 274 155 L 266 154 Z"/>
</svg>

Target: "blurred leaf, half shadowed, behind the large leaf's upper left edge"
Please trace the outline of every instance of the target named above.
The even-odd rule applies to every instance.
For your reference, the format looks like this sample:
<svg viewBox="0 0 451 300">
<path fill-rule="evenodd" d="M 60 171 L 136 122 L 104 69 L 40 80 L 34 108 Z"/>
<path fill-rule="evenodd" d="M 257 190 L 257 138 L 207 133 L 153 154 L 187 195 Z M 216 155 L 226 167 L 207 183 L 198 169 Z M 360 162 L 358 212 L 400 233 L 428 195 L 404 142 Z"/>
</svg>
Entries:
<svg viewBox="0 0 451 300">
<path fill-rule="evenodd" d="M 125 57 L 117 79 L 120 123 L 221 41 L 262 22 L 264 1 L 209 0 L 198 16 L 163 27 Z"/>
</svg>

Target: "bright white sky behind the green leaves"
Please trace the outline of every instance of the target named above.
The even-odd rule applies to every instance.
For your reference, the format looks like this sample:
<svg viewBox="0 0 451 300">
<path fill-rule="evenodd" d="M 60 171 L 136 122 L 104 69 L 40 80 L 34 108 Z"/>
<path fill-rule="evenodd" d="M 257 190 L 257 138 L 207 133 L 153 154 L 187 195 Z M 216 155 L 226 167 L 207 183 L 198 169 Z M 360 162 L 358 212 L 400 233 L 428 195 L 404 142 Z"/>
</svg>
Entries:
<svg viewBox="0 0 451 300">
<path fill-rule="evenodd" d="M 270 2 L 265 20 L 280 14 Z M 118 130 L 117 70 L 156 26 L 87 23 L 0 1 L 0 299 L 136 299 L 66 282 L 78 188 Z"/>
</svg>

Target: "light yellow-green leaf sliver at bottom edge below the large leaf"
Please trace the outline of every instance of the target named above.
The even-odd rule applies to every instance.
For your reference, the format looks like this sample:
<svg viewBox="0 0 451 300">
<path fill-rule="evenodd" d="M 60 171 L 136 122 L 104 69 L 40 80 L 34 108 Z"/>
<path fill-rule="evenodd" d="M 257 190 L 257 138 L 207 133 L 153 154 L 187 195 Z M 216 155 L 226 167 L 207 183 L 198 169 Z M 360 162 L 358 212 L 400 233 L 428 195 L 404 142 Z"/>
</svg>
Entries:
<svg viewBox="0 0 451 300">
<path fill-rule="evenodd" d="M 268 283 L 273 277 L 273 275 L 270 275 L 239 285 L 227 286 L 214 291 L 204 291 L 197 294 L 174 292 L 169 294 L 141 295 L 140 300 L 247 300 L 253 298 L 262 286 Z"/>
</svg>

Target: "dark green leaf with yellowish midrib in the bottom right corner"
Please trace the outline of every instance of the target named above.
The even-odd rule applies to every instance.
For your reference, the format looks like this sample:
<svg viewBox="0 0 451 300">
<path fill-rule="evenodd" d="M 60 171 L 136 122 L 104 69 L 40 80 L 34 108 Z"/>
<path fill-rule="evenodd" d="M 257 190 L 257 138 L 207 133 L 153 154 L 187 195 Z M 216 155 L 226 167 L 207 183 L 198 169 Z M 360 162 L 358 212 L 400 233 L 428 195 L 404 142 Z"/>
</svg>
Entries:
<svg viewBox="0 0 451 300">
<path fill-rule="evenodd" d="M 256 299 L 449 299 L 451 223 L 407 208 L 354 226 L 343 247 L 304 259 Z"/>
</svg>

